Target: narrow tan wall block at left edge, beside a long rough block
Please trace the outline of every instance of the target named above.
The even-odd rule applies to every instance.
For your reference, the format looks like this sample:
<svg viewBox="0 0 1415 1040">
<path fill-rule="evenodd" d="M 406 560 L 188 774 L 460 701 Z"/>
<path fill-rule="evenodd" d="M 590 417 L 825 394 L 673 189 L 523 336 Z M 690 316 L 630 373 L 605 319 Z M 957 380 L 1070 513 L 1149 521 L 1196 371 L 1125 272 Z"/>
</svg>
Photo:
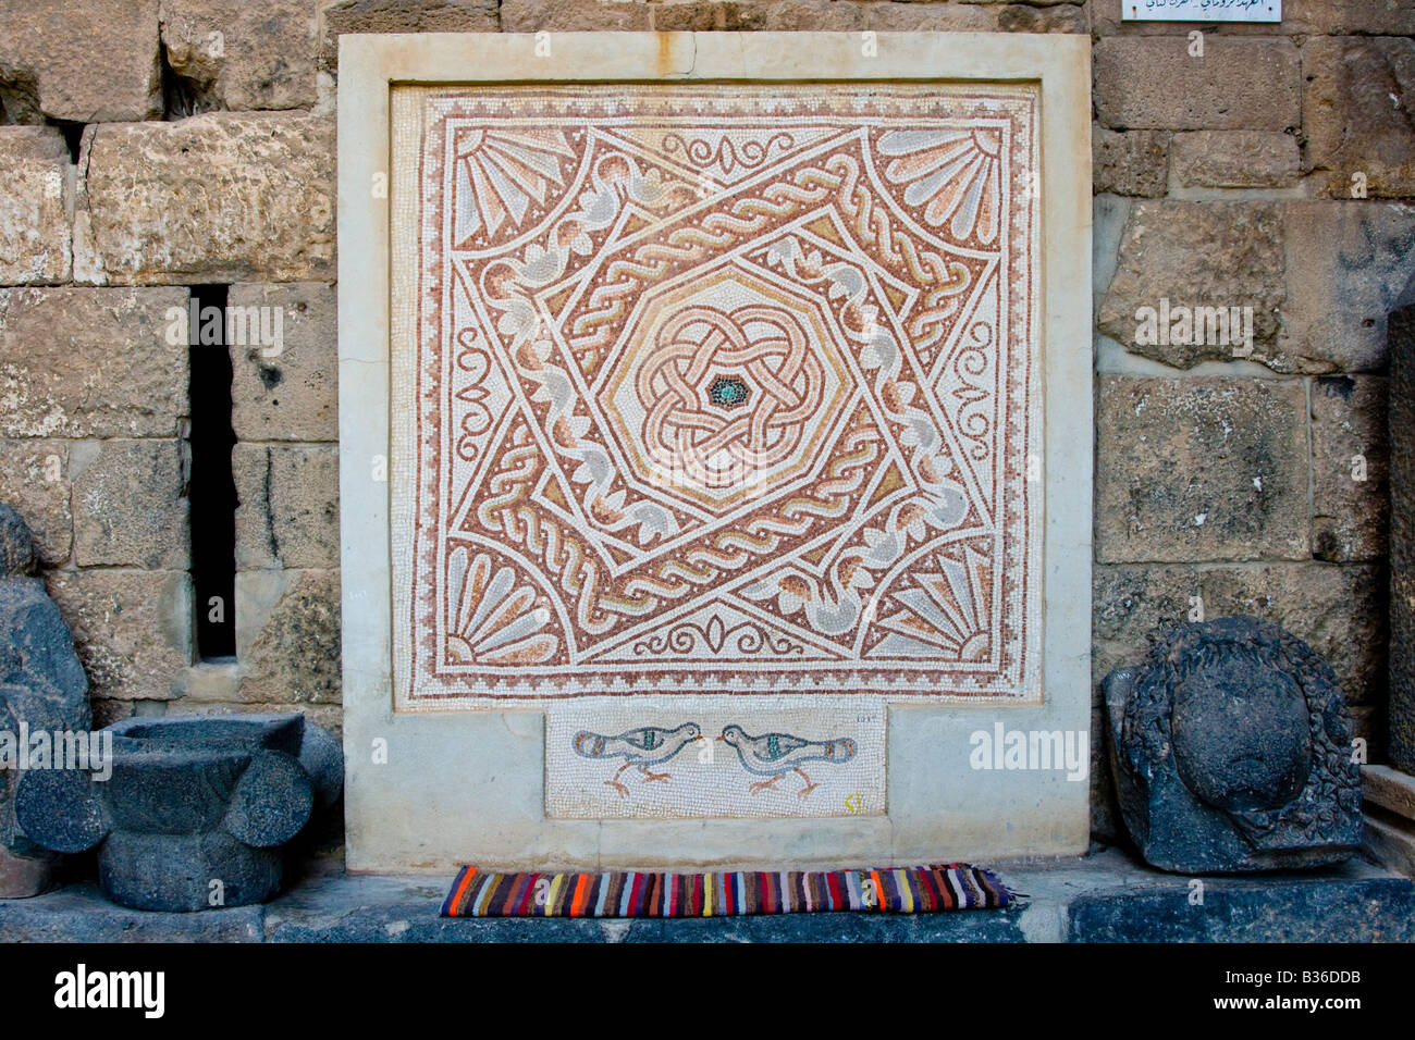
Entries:
<svg viewBox="0 0 1415 1040">
<path fill-rule="evenodd" d="M 45 126 L 0 126 L 0 282 L 67 282 L 69 150 L 64 134 Z"/>
</svg>

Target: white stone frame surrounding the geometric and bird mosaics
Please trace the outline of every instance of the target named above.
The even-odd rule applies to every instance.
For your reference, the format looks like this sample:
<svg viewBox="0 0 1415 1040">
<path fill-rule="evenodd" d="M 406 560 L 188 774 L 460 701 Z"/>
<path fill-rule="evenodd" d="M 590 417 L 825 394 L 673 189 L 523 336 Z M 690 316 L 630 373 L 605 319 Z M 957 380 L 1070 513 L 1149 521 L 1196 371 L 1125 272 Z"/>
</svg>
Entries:
<svg viewBox="0 0 1415 1040">
<path fill-rule="evenodd" d="M 877 52 L 862 55 L 863 35 Z M 1090 733 L 1091 71 L 1084 35 L 555 33 L 344 35 L 338 82 L 340 516 L 351 870 L 782 869 L 1078 855 L 1090 780 L 982 771 L 975 730 Z M 889 81 L 1040 83 L 1044 416 L 1041 703 L 891 705 L 889 812 L 548 819 L 541 710 L 395 712 L 388 481 L 393 85 Z M 1057 402 L 1057 408 L 1049 408 Z M 941 753 L 940 749 L 948 749 Z M 386 761 L 379 751 L 386 750 Z"/>
</svg>

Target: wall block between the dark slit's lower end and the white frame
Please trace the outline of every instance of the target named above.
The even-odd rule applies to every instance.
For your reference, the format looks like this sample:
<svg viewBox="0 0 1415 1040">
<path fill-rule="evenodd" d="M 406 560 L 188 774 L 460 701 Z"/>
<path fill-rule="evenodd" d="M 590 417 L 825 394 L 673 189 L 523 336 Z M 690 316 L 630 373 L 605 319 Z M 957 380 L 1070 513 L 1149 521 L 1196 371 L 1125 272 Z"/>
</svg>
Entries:
<svg viewBox="0 0 1415 1040">
<path fill-rule="evenodd" d="M 272 705 L 340 702 L 340 572 L 236 574 L 241 698 Z"/>
</svg>

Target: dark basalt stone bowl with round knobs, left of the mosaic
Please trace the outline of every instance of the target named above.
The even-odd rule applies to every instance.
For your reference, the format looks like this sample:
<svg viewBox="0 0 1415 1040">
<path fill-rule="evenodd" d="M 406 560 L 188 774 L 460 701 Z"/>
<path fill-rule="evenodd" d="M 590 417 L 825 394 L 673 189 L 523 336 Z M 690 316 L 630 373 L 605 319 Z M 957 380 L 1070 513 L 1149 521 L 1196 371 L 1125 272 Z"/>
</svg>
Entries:
<svg viewBox="0 0 1415 1040">
<path fill-rule="evenodd" d="M 98 849 L 103 893 L 137 910 L 262 903 L 286 846 L 340 792 L 342 754 L 301 715 L 125 719 L 108 780 L 30 770 L 16 814 L 55 852 Z"/>
</svg>

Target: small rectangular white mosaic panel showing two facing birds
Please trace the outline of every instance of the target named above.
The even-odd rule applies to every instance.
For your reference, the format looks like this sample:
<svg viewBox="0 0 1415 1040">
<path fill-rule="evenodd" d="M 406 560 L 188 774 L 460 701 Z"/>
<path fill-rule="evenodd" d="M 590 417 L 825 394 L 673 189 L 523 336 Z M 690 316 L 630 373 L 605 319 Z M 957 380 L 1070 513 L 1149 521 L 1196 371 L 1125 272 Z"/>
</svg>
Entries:
<svg viewBox="0 0 1415 1040">
<path fill-rule="evenodd" d="M 552 818 L 879 816 L 880 698 L 583 698 L 546 710 Z"/>
</svg>

